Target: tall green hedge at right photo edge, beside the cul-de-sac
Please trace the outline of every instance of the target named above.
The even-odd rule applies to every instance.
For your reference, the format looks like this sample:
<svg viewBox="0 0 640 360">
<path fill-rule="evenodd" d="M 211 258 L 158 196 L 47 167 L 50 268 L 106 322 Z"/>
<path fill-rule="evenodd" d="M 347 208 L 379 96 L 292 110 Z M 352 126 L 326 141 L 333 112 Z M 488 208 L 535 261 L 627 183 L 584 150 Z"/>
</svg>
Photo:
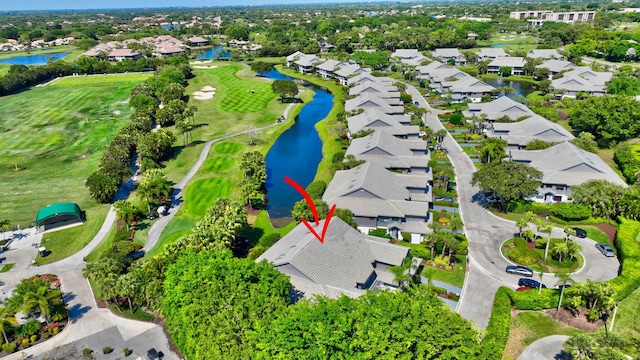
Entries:
<svg viewBox="0 0 640 360">
<path fill-rule="evenodd" d="M 609 280 L 609 284 L 616 290 L 616 300 L 623 300 L 640 287 L 640 222 L 623 218 L 619 220 L 616 248 L 622 270 L 617 278 Z"/>
</svg>

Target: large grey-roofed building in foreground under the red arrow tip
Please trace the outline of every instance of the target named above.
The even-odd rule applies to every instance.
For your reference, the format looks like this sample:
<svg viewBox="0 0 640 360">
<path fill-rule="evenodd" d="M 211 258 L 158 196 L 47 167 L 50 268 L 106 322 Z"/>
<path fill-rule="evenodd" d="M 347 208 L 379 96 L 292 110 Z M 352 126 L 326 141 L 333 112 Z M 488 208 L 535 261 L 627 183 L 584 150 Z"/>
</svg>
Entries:
<svg viewBox="0 0 640 360">
<path fill-rule="evenodd" d="M 322 233 L 325 221 L 312 225 L 316 233 Z M 256 261 L 273 263 L 289 277 L 297 294 L 306 298 L 355 298 L 367 290 L 395 288 L 391 267 L 401 265 L 410 256 L 409 250 L 362 234 L 334 216 L 323 243 L 304 224 L 298 224 Z M 409 271 L 413 274 L 415 270 Z"/>
</svg>

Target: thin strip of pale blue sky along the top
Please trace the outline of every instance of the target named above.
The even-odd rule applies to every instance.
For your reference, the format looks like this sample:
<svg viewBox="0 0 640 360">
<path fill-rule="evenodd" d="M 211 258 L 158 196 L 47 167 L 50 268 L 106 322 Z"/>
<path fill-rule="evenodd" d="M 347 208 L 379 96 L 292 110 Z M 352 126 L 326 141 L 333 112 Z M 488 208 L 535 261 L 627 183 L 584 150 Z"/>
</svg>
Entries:
<svg viewBox="0 0 640 360">
<path fill-rule="evenodd" d="M 356 0 L 357 1 L 357 0 Z M 362 1 L 362 0 L 360 0 Z M 322 2 L 355 2 L 344 0 L 314 0 Z M 0 0 L 0 11 L 159 8 L 171 6 L 228 6 L 308 3 L 305 0 Z"/>
</svg>

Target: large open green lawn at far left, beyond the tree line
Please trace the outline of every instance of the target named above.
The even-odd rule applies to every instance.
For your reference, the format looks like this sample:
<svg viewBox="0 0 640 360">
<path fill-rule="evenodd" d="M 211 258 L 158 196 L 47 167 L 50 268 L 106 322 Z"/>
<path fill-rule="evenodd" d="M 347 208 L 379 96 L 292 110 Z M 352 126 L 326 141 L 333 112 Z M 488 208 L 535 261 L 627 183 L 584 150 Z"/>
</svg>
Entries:
<svg viewBox="0 0 640 360">
<path fill-rule="evenodd" d="M 129 91 L 148 76 L 65 78 L 1 97 L 0 219 L 29 224 L 62 201 L 95 206 L 84 180 L 127 124 Z"/>
</svg>

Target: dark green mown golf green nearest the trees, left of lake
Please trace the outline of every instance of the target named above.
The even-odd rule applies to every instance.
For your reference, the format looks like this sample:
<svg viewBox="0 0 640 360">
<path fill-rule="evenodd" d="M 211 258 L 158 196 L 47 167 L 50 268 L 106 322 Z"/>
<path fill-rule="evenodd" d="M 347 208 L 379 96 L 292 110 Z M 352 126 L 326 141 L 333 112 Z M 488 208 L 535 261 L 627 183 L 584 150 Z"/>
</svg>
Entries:
<svg viewBox="0 0 640 360">
<path fill-rule="evenodd" d="M 206 178 L 194 181 L 185 193 L 185 210 L 194 217 L 202 217 L 215 199 L 229 196 L 231 182 L 222 178 Z"/>
</svg>

